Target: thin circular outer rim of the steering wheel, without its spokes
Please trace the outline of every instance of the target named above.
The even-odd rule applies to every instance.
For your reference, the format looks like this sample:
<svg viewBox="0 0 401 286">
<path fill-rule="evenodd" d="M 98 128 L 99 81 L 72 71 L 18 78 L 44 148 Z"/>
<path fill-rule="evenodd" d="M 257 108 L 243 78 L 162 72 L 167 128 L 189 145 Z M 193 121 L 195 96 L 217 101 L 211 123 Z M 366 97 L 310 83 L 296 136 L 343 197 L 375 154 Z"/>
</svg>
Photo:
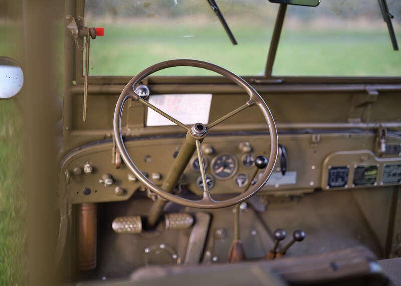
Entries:
<svg viewBox="0 0 401 286">
<path fill-rule="evenodd" d="M 216 201 L 213 199 L 189 200 L 189 199 L 185 199 L 185 198 L 179 197 L 177 195 L 174 195 L 172 193 L 169 193 L 169 192 L 165 191 L 164 189 L 162 189 L 161 187 L 154 184 L 152 181 L 150 181 L 147 177 L 145 177 L 142 174 L 142 172 L 138 169 L 138 167 L 136 167 L 136 165 L 132 161 L 132 159 L 131 159 L 130 155 L 128 154 L 128 151 L 125 147 L 123 137 L 122 137 L 122 132 L 121 132 L 122 111 L 123 111 L 124 105 L 128 99 L 139 99 L 140 98 L 138 95 L 135 94 L 134 91 L 132 91 L 132 87 L 137 86 L 144 78 L 148 77 L 149 75 L 151 75 L 157 71 L 160 71 L 160 70 L 163 70 L 166 68 L 171 68 L 171 67 L 178 67 L 178 66 L 190 66 L 190 67 L 203 68 L 206 70 L 210 70 L 210 71 L 216 72 L 216 73 L 224 76 L 225 78 L 231 80 L 232 82 L 236 83 L 238 86 L 243 88 L 250 97 L 250 100 L 247 101 L 246 104 L 248 106 L 252 106 L 252 105 L 258 106 L 266 120 L 268 129 L 269 129 L 269 134 L 270 134 L 270 156 L 269 156 L 268 164 L 267 164 L 262 176 L 259 178 L 258 182 L 255 185 L 249 186 L 249 188 L 245 192 L 243 192 L 233 198 L 222 200 L 222 201 Z M 241 110 L 239 110 L 239 111 L 241 111 Z M 237 112 L 239 112 L 239 111 L 237 111 Z M 173 121 L 173 122 L 175 122 L 175 121 Z M 181 127 L 183 127 L 182 123 L 180 123 L 179 121 L 177 121 L 175 123 L 180 125 Z M 218 123 L 220 123 L 220 122 L 218 122 Z M 214 125 L 212 125 L 211 127 L 213 127 L 213 126 Z M 189 127 L 186 127 L 186 128 L 187 128 L 187 130 L 189 130 Z M 138 180 L 142 184 L 144 184 L 146 187 L 148 187 L 150 190 L 152 190 L 158 196 L 160 196 L 161 198 L 163 198 L 165 200 L 169 200 L 169 201 L 172 201 L 172 202 L 180 204 L 180 205 L 194 207 L 194 208 L 203 208 L 203 209 L 222 208 L 222 207 L 232 206 L 232 205 L 241 203 L 244 200 L 247 200 L 248 198 L 253 196 L 256 192 L 258 192 L 263 187 L 263 185 L 266 184 L 267 180 L 270 178 L 270 176 L 273 172 L 273 168 L 276 163 L 277 154 L 278 154 L 278 135 L 277 135 L 276 124 L 274 122 L 274 119 L 270 112 L 269 107 L 267 106 L 267 104 L 265 103 L 263 98 L 259 95 L 259 93 L 250 84 L 248 84 L 244 79 L 242 79 L 240 76 L 238 76 L 220 66 L 217 66 L 217 65 L 214 65 L 214 64 L 211 64 L 208 62 L 204 62 L 204 61 L 199 61 L 199 60 L 177 59 L 177 60 L 169 60 L 169 61 L 160 62 L 160 63 L 154 64 L 154 65 L 144 69 L 143 71 L 138 73 L 135 77 L 133 77 L 128 82 L 128 84 L 124 87 L 124 89 L 122 90 L 122 92 L 117 100 L 116 108 L 114 111 L 113 131 L 114 131 L 115 142 L 116 142 L 118 150 L 120 151 L 123 161 L 125 162 L 128 169 L 138 178 Z"/>
</svg>

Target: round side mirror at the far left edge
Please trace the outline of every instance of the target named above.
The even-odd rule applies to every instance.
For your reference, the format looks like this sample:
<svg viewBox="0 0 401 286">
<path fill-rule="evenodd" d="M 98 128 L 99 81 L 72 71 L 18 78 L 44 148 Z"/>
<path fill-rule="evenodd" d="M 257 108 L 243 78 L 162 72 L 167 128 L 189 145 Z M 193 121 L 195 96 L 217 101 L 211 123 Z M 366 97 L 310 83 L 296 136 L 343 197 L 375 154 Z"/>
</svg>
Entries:
<svg viewBox="0 0 401 286">
<path fill-rule="evenodd" d="M 17 95 L 24 83 L 21 66 L 9 57 L 0 57 L 0 99 Z"/>
</svg>

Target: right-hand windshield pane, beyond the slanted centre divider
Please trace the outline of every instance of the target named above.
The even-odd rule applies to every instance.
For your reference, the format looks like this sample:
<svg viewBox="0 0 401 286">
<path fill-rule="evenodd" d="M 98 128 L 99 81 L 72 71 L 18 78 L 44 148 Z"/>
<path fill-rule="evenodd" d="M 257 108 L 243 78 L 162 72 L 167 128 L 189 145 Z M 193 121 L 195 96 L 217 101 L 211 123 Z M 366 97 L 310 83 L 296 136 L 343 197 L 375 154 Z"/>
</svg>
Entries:
<svg viewBox="0 0 401 286">
<path fill-rule="evenodd" d="M 387 2 L 401 44 L 401 1 Z M 401 52 L 393 50 L 377 0 L 289 5 L 273 75 L 400 76 Z"/>
</svg>

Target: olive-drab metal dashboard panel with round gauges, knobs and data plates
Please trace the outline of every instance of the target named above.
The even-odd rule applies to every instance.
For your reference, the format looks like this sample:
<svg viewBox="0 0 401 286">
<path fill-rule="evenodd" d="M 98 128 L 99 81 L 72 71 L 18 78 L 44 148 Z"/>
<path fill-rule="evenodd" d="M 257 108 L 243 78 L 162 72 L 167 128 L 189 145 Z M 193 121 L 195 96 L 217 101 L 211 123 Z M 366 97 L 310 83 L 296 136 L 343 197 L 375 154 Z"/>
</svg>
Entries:
<svg viewBox="0 0 401 286">
<path fill-rule="evenodd" d="M 202 143 L 207 184 L 211 195 L 241 193 L 257 181 L 254 160 L 269 158 L 269 138 L 259 133 L 210 134 Z M 378 156 L 374 133 L 280 134 L 283 150 L 274 172 L 259 194 L 295 195 L 353 188 L 397 185 L 401 181 L 401 138 L 388 136 L 387 151 Z M 127 150 L 154 184 L 161 185 L 177 156 L 182 136 L 128 138 Z M 122 201 L 146 192 L 120 162 L 112 140 L 97 141 L 69 152 L 62 161 L 62 189 L 71 203 Z M 199 162 L 190 160 L 179 182 L 202 194 Z"/>
</svg>

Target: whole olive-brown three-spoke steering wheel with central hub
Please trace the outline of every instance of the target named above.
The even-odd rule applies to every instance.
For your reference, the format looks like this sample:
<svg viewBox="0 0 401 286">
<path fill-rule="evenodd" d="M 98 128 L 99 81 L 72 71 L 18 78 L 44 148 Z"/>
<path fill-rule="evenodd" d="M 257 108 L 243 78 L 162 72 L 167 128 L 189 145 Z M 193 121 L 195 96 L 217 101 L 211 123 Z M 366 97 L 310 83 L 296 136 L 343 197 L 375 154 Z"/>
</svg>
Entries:
<svg viewBox="0 0 401 286">
<path fill-rule="evenodd" d="M 207 125 L 204 125 L 202 123 L 195 123 L 192 126 L 187 126 L 187 125 L 181 123 L 180 121 L 176 120 L 175 118 L 171 117 L 170 115 L 166 114 L 165 112 L 161 111 L 157 107 L 153 106 L 148 101 L 141 98 L 138 94 L 135 93 L 135 91 L 134 91 L 135 88 L 133 88 L 133 87 L 136 87 L 145 77 L 153 74 L 154 72 L 160 71 L 162 69 L 171 68 L 171 67 L 179 67 L 179 66 L 190 66 L 190 67 L 197 67 L 197 68 L 214 71 L 214 72 L 224 76 L 225 78 L 231 80 L 232 82 L 236 83 L 241 88 L 243 88 L 244 91 L 249 95 L 249 100 L 242 106 L 233 110 L 232 112 L 220 117 L 219 119 L 217 119 Z M 121 115 L 122 115 L 122 110 L 124 108 L 124 104 L 128 99 L 140 101 L 142 104 L 144 104 L 148 108 L 153 109 L 157 113 L 161 114 L 162 116 L 166 117 L 170 121 L 174 122 L 178 126 L 185 129 L 187 132 L 184 144 L 180 148 L 178 156 L 174 159 L 173 165 L 171 166 L 170 171 L 167 174 L 165 181 L 161 187 L 157 186 L 152 181 L 150 181 L 146 176 L 143 175 L 143 173 L 138 169 L 138 167 L 132 161 L 132 159 L 131 159 L 130 155 L 128 154 L 127 149 L 125 147 L 123 137 L 122 137 L 122 132 L 121 132 Z M 262 112 L 262 114 L 266 120 L 267 126 L 269 128 L 269 133 L 270 133 L 270 156 L 269 156 L 269 160 L 268 160 L 266 169 L 264 170 L 264 172 L 263 172 L 262 176 L 260 177 L 260 179 L 258 180 L 258 182 L 255 185 L 250 186 L 245 192 L 239 194 L 238 196 L 230 198 L 230 199 L 221 200 L 221 201 L 214 200 L 210 196 L 208 186 L 206 183 L 206 173 L 205 173 L 205 167 L 203 164 L 202 150 L 200 148 L 200 143 L 205 138 L 207 131 L 209 129 L 211 129 L 212 127 L 216 126 L 217 124 L 223 122 L 224 120 L 230 118 L 231 116 L 237 114 L 238 112 L 240 112 L 250 106 L 254 106 L 254 105 L 258 106 L 260 111 Z M 262 186 L 267 182 L 270 175 L 272 174 L 274 165 L 277 160 L 278 136 L 277 136 L 276 124 L 274 122 L 274 119 L 272 117 L 272 114 L 271 114 L 267 104 L 262 99 L 262 97 L 258 94 L 258 92 L 251 85 L 249 85 L 241 77 L 239 77 L 239 76 L 235 75 L 234 73 L 232 73 L 222 67 L 219 67 L 217 65 L 214 65 L 214 64 L 211 64 L 208 62 L 198 61 L 198 60 L 178 59 L 178 60 L 170 60 L 170 61 L 160 62 L 158 64 L 155 64 L 153 66 L 150 66 L 150 67 L 144 69 L 142 72 L 140 72 L 135 77 L 133 77 L 128 82 L 128 84 L 124 87 L 124 89 L 122 90 L 122 92 L 118 98 L 116 108 L 114 111 L 113 129 L 114 129 L 114 138 L 115 138 L 118 150 L 120 151 L 120 154 L 122 156 L 122 159 L 124 160 L 128 169 L 138 178 L 138 180 L 142 184 L 144 184 L 146 187 L 148 187 L 151 191 L 155 192 L 157 195 L 159 195 L 161 198 L 163 198 L 164 200 L 169 200 L 174 203 L 188 206 L 188 207 L 205 208 L 205 209 L 222 208 L 222 207 L 228 207 L 228 206 L 238 204 L 238 203 L 250 198 L 257 191 L 259 191 L 262 188 Z M 203 189 L 204 189 L 203 198 L 200 200 L 190 200 L 190 199 L 179 197 L 179 196 L 171 193 L 195 151 L 197 151 L 197 155 L 199 158 L 200 173 L 202 176 Z"/>
</svg>

